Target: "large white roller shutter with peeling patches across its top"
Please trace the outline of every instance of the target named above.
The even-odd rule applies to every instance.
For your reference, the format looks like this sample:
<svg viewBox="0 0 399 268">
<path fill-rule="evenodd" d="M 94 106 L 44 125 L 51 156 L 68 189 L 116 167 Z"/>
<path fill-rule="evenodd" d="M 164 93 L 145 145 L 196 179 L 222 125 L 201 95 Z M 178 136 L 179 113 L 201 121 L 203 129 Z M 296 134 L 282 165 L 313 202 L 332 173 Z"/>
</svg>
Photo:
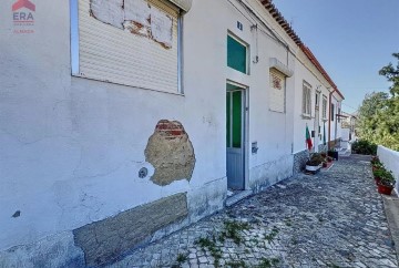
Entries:
<svg viewBox="0 0 399 268">
<path fill-rule="evenodd" d="M 125 18 L 129 17 L 124 14 L 125 1 L 79 1 L 80 75 L 111 83 L 177 93 L 178 8 L 162 0 L 142 0 L 144 3 L 142 7 L 146 9 L 145 12 L 151 13 L 151 19 L 141 24 Z M 140 3 L 140 0 L 130 1 Z M 122 19 L 120 12 L 123 13 Z M 140 17 L 145 12 L 139 11 L 136 16 Z M 156 30 L 160 31 L 160 27 L 155 24 L 157 19 L 155 17 L 161 18 L 158 21 L 162 21 L 164 16 L 172 20 L 172 38 L 166 45 L 156 38 Z M 139 25 L 139 28 L 133 31 L 129 25 Z M 158 29 L 155 29 L 156 27 Z"/>
</svg>

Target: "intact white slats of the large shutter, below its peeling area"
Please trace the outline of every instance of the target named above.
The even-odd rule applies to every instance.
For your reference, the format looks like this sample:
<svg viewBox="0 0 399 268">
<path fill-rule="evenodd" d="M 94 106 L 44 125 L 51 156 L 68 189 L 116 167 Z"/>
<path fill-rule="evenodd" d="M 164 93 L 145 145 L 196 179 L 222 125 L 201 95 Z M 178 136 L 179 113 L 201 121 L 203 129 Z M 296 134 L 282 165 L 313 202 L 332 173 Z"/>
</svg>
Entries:
<svg viewBox="0 0 399 268">
<path fill-rule="evenodd" d="M 143 0 L 145 1 L 145 0 Z M 177 93 L 178 10 L 162 0 L 149 0 L 173 19 L 172 48 L 147 37 L 105 24 L 90 16 L 90 0 L 79 1 L 80 73 L 116 84 Z"/>
</svg>

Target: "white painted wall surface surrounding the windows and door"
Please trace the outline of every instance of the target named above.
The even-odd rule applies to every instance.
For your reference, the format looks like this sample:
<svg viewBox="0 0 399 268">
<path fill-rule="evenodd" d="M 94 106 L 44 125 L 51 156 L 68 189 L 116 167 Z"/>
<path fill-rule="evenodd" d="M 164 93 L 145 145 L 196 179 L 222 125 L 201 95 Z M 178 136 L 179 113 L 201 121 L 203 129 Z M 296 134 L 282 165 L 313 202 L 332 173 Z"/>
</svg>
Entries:
<svg viewBox="0 0 399 268">
<path fill-rule="evenodd" d="M 69 1 L 37 1 L 32 34 L 13 33 L 13 2 L 6 0 L 8 8 L 0 10 L 0 250 L 181 192 L 187 192 L 192 212 L 206 202 L 221 208 L 226 193 L 227 80 L 249 89 L 247 187 L 288 177 L 291 153 L 305 150 L 305 124 L 313 126 L 298 113 L 301 81 L 314 89 L 321 84 L 328 93 L 325 82 L 282 43 L 260 31 L 255 38 L 238 1 L 233 2 L 243 13 L 228 1 L 202 0 L 185 14 L 184 95 L 71 76 Z M 250 4 L 296 48 L 259 2 Z M 250 75 L 226 66 L 228 31 L 249 44 L 250 61 L 259 56 L 250 63 Z M 268 109 L 269 58 L 295 71 L 286 81 L 285 113 Z M 143 166 L 153 173 L 144 150 L 163 118 L 184 125 L 196 164 L 190 182 L 160 187 L 137 173 Z M 253 155 L 255 141 L 259 151 Z M 17 210 L 21 216 L 12 218 Z"/>
</svg>

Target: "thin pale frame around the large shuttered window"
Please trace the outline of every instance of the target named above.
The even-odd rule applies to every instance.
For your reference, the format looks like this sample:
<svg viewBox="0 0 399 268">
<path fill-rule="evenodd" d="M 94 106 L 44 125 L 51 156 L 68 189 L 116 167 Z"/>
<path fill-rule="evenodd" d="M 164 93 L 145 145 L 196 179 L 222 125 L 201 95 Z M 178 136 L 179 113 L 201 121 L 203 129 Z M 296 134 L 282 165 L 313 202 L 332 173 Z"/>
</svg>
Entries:
<svg viewBox="0 0 399 268">
<path fill-rule="evenodd" d="M 79 37 L 79 0 L 70 0 L 70 27 L 71 27 L 71 75 L 76 78 L 90 79 L 81 75 L 80 73 L 80 37 Z M 105 83 L 108 82 L 102 81 Z M 132 87 L 142 89 L 135 85 L 126 85 Z M 184 94 L 183 87 L 183 14 L 177 18 L 177 89 L 176 92 L 158 91 L 154 89 L 144 89 L 150 91 L 163 92 L 168 94 Z"/>
</svg>

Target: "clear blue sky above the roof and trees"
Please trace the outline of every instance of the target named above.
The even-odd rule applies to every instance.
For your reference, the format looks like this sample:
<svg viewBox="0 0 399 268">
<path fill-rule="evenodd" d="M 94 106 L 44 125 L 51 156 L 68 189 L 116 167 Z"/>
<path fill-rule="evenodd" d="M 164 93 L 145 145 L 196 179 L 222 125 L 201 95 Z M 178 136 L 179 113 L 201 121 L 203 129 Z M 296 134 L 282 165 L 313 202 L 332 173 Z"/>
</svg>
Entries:
<svg viewBox="0 0 399 268">
<path fill-rule="evenodd" d="M 355 112 L 366 93 L 388 92 L 378 71 L 399 52 L 399 0 L 274 0 Z"/>
</svg>

